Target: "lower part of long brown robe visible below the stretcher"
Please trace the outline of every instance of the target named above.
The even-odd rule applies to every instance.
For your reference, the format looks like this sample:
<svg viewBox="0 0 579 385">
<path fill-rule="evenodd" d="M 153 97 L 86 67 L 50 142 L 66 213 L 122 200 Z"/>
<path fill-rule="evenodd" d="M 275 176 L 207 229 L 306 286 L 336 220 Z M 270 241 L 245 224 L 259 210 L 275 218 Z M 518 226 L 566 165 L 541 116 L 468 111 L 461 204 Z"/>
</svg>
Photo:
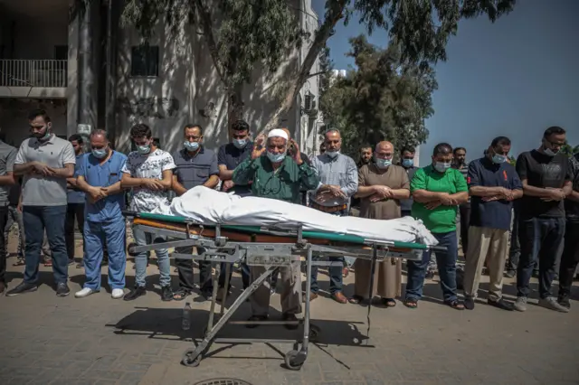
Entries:
<svg viewBox="0 0 579 385">
<path fill-rule="evenodd" d="M 357 258 L 354 268 L 354 294 L 367 298 L 370 291 L 372 262 L 367 259 Z M 402 259 L 388 258 L 382 262 L 377 262 L 374 273 L 373 296 L 395 298 L 401 295 Z"/>
</svg>

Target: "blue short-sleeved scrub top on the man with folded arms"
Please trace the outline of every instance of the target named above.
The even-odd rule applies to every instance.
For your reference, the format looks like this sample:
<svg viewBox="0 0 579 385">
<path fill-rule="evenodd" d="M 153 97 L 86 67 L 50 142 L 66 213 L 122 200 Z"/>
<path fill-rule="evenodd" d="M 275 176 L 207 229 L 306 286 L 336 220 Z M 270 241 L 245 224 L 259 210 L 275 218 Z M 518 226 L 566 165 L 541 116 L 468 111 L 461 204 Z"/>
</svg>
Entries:
<svg viewBox="0 0 579 385">
<path fill-rule="evenodd" d="M 100 160 L 92 154 L 84 155 L 81 160 L 79 175 L 91 186 L 109 187 L 120 181 L 121 170 L 127 162 L 127 156 L 113 151 L 109 160 L 100 164 Z M 86 202 L 85 212 L 87 221 L 119 221 L 122 220 L 122 211 L 125 209 L 125 194 L 108 196 L 96 203 Z"/>
</svg>

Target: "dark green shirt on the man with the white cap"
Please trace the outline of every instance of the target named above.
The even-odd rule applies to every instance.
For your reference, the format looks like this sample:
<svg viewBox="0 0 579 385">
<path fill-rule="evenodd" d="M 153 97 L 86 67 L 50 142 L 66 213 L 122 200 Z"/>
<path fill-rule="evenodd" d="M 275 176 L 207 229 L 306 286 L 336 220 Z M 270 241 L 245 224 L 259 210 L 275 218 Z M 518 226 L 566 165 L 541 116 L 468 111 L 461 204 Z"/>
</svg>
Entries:
<svg viewBox="0 0 579 385">
<path fill-rule="evenodd" d="M 253 196 L 278 199 L 290 203 L 300 203 L 299 190 L 315 190 L 319 177 L 306 162 L 298 165 L 286 156 L 277 171 L 271 161 L 262 155 L 253 159 L 248 157 L 233 171 L 233 183 L 252 182 Z"/>
</svg>

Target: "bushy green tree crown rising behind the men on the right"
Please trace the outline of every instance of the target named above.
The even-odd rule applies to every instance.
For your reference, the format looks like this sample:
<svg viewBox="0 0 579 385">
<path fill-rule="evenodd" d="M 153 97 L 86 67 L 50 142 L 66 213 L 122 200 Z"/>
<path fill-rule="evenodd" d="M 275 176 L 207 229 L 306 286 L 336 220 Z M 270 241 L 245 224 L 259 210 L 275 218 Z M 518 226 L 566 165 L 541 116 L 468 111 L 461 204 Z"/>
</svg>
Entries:
<svg viewBox="0 0 579 385">
<path fill-rule="evenodd" d="M 363 35 L 350 39 L 356 62 L 345 79 L 334 80 L 320 99 L 327 126 L 342 132 L 343 151 L 356 155 L 359 146 L 392 142 L 397 150 L 426 140 L 424 119 L 431 117 L 434 71 L 404 63 L 400 50 L 382 50 Z"/>
</svg>

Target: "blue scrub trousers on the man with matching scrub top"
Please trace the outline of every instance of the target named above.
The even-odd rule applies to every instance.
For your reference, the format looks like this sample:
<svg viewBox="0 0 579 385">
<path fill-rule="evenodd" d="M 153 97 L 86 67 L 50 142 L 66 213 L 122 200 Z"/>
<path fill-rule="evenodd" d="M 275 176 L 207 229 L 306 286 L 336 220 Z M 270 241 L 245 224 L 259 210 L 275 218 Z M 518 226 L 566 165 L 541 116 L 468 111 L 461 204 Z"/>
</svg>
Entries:
<svg viewBox="0 0 579 385">
<path fill-rule="evenodd" d="M 116 221 L 84 222 L 84 272 L 86 281 L 83 287 L 100 290 L 100 262 L 104 246 L 109 250 L 109 286 L 111 289 L 125 287 L 125 268 L 127 266 L 125 237 L 127 226 L 123 218 Z M 147 264 L 145 265 L 147 267 Z"/>
</svg>

